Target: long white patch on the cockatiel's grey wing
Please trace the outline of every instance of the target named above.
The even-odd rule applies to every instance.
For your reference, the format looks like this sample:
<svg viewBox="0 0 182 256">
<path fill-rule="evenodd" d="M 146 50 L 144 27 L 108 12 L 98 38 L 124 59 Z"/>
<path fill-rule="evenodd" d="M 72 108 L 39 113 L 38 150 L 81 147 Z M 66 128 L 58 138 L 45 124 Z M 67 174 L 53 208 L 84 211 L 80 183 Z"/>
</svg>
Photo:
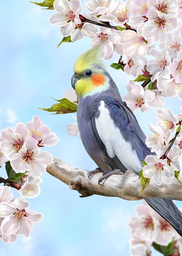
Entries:
<svg viewBox="0 0 182 256">
<path fill-rule="evenodd" d="M 99 106 L 100 116 L 95 118 L 97 132 L 102 143 L 104 143 L 108 156 L 117 156 L 121 163 L 131 171 L 140 171 L 142 163 L 131 144 L 123 138 L 119 128 L 114 125 L 105 102 L 101 101 Z"/>
</svg>

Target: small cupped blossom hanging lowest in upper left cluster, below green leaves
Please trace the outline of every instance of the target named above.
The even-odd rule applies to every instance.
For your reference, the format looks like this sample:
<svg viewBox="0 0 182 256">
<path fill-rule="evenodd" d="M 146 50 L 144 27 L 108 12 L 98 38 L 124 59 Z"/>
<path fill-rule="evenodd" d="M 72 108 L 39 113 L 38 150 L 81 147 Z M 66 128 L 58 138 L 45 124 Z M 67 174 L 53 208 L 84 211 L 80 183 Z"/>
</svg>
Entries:
<svg viewBox="0 0 182 256">
<path fill-rule="evenodd" d="M 21 189 L 18 190 L 18 193 L 20 193 L 23 198 L 35 198 L 40 195 L 39 184 L 42 182 L 43 180 L 41 180 L 40 177 L 34 178 L 28 176 L 26 181 L 21 185 Z"/>
</svg>

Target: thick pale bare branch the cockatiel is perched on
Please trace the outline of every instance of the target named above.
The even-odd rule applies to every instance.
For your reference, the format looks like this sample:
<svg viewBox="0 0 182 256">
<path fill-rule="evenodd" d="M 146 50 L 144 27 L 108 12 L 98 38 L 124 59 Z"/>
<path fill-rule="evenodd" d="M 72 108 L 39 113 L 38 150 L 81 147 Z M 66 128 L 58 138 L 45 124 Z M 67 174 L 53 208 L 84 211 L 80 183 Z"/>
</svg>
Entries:
<svg viewBox="0 0 182 256">
<path fill-rule="evenodd" d="M 54 158 L 53 164 L 47 166 L 47 172 L 69 185 L 70 189 L 77 190 L 82 198 L 91 195 L 103 195 L 129 201 L 145 198 L 166 198 L 182 201 L 182 184 L 176 178 L 164 177 L 161 186 L 157 186 L 151 179 L 149 186 L 138 197 L 141 184 L 138 176 L 132 171 L 127 171 L 123 176 L 113 175 L 105 180 L 102 186 L 97 183 L 102 173 L 93 175 L 89 180 L 87 170 L 76 169 L 57 158 Z M 179 177 L 179 179 L 182 182 L 182 178 Z"/>
</svg>

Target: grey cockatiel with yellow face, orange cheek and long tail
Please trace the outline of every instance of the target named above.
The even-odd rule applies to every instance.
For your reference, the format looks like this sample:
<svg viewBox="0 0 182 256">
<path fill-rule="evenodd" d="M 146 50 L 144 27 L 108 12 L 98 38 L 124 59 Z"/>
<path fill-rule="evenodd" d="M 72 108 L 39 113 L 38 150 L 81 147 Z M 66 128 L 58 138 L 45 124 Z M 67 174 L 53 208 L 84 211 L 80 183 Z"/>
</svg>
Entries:
<svg viewBox="0 0 182 256">
<path fill-rule="evenodd" d="M 102 43 L 103 44 L 103 43 Z M 137 119 L 124 104 L 118 88 L 100 59 L 101 46 L 80 55 L 74 64 L 72 87 L 78 97 L 77 122 L 82 143 L 103 172 L 98 183 L 131 170 L 137 175 L 151 153 Z M 182 213 L 173 201 L 145 199 L 182 236 Z"/>
</svg>

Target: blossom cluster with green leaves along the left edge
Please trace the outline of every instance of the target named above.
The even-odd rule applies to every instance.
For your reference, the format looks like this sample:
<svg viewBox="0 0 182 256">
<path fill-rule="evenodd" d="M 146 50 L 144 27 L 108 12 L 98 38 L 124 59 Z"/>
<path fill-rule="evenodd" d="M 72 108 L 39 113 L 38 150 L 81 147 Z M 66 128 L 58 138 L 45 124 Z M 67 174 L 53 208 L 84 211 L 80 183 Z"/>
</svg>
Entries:
<svg viewBox="0 0 182 256">
<path fill-rule="evenodd" d="M 28 209 L 29 203 L 24 198 L 40 195 L 43 181 L 40 176 L 46 172 L 47 165 L 53 163 L 53 156 L 40 148 L 53 146 L 58 141 L 56 134 L 43 125 L 38 116 L 33 116 L 26 125 L 18 123 L 15 129 L 0 131 L 0 166 L 6 163 L 6 181 L 16 187 L 21 196 L 13 199 L 8 186 L 0 187 L 0 239 L 5 243 L 16 241 L 19 235 L 27 237 L 33 222 L 43 218 Z"/>
</svg>

